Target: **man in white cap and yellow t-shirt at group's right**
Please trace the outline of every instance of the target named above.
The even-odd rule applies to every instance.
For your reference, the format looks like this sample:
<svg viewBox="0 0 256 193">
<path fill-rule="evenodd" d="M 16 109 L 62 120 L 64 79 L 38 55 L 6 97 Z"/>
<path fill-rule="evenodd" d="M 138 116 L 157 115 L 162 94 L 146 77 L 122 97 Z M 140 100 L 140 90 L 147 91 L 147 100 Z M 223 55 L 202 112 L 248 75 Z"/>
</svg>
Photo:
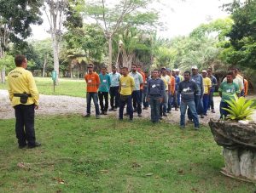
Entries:
<svg viewBox="0 0 256 193">
<path fill-rule="evenodd" d="M 210 100 L 210 91 L 212 87 L 212 81 L 209 77 L 207 77 L 207 71 L 203 70 L 201 71 L 201 75 L 203 77 L 203 85 L 204 85 L 204 95 L 203 95 L 203 114 L 207 116 L 207 110 L 209 106 L 209 100 Z"/>
</svg>

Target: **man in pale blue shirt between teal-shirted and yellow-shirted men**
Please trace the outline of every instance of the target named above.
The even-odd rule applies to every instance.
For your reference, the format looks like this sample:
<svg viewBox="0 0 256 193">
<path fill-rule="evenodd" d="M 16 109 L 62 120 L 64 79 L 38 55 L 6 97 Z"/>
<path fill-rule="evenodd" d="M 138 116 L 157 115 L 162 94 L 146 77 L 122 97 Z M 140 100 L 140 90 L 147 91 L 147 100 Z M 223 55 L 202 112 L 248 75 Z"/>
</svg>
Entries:
<svg viewBox="0 0 256 193">
<path fill-rule="evenodd" d="M 116 67 L 114 65 L 112 66 L 112 72 L 109 73 L 109 76 L 111 80 L 109 89 L 111 108 L 109 111 L 116 111 L 119 107 L 119 79 L 121 75 L 116 71 Z"/>
</svg>

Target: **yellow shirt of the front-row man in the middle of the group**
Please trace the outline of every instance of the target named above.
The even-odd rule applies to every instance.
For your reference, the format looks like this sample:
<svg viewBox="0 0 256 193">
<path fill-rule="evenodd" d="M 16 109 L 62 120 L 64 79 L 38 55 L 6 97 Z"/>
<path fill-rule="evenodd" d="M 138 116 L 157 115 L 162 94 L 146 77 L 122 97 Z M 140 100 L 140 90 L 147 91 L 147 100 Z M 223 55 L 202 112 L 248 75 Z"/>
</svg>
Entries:
<svg viewBox="0 0 256 193">
<path fill-rule="evenodd" d="M 133 77 L 127 75 L 126 77 L 120 77 L 120 94 L 131 95 L 133 88 L 135 87 L 135 82 Z"/>
</svg>

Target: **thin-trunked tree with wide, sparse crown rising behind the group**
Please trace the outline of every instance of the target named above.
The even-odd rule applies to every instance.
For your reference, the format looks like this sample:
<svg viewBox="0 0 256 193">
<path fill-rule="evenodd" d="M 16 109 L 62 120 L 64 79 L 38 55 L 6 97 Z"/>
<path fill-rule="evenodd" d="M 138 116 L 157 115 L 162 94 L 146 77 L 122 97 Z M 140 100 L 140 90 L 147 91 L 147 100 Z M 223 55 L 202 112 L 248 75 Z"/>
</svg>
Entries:
<svg viewBox="0 0 256 193">
<path fill-rule="evenodd" d="M 108 41 L 108 68 L 111 69 L 113 56 L 113 36 L 127 26 L 153 24 L 157 14 L 147 10 L 152 0 L 120 0 L 113 3 L 106 0 L 89 0 L 85 13 L 96 20 L 104 30 Z M 145 20 L 146 19 L 146 20 Z"/>
</svg>

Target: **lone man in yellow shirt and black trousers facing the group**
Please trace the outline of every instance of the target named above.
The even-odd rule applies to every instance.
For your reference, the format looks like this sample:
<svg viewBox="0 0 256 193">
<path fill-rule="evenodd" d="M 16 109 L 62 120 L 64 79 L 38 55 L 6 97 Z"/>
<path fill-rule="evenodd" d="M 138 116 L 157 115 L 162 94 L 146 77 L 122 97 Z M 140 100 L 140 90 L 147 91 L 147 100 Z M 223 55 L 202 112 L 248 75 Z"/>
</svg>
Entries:
<svg viewBox="0 0 256 193">
<path fill-rule="evenodd" d="M 31 71 L 27 71 L 24 55 L 15 57 L 16 68 L 9 72 L 9 99 L 15 108 L 15 132 L 19 148 L 34 148 L 41 144 L 36 142 L 34 117 L 38 109 L 38 88 Z"/>
</svg>

